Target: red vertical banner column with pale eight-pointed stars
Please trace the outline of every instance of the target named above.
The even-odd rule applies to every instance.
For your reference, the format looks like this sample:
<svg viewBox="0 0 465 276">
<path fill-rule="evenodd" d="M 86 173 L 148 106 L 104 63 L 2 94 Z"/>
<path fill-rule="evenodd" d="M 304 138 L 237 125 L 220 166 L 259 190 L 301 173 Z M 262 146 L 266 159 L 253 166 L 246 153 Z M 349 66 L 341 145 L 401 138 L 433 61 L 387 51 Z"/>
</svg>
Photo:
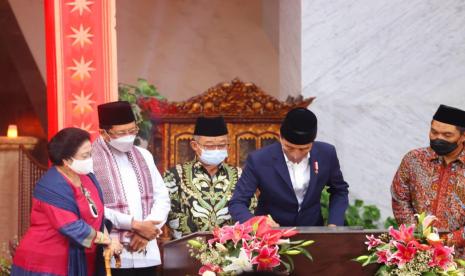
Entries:
<svg viewBox="0 0 465 276">
<path fill-rule="evenodd" d="M 45 0 L 48 136 L 97 135 L 97 105 L 118 99 L 115 0 Z"/>
</svg>

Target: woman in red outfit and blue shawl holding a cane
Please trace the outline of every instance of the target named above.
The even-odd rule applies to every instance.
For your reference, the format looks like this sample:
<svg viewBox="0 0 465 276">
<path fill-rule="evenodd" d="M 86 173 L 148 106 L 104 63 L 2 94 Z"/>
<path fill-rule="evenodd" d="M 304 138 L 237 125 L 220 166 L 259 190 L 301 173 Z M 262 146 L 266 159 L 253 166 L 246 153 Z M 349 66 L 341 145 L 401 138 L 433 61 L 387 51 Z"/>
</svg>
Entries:
<svg viewBox="0 0 465 276">
<path fill-rule="evenodd" d="M 48 153 L 53 167 L 34 188 L 31 226 L 11 275 L 103 275 L 102 245 L 115 254 L 121 245 L 105 228 L 89 133 L 65 128 L 50 140 Z"/>
</svg>

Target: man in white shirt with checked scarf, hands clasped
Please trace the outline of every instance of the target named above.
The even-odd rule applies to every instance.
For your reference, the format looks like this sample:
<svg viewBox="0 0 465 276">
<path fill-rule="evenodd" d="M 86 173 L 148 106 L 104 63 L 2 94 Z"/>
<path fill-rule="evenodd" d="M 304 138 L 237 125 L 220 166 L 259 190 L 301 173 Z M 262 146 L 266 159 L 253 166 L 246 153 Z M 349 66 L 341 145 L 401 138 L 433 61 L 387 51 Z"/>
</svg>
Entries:
<svg viewBox="0 0 465 276">
<path fill-rule="evenodd" d="M 102 187 L 111 235 L 125 245 L 112 275 L 155 275 L 161 264 L 157 237 L 170 200 L 152 154 L 134 145 L 138 127 L 128 102 L 98 106 L 100 137 L 93 144 L 94 172 Z"/>
</svg>

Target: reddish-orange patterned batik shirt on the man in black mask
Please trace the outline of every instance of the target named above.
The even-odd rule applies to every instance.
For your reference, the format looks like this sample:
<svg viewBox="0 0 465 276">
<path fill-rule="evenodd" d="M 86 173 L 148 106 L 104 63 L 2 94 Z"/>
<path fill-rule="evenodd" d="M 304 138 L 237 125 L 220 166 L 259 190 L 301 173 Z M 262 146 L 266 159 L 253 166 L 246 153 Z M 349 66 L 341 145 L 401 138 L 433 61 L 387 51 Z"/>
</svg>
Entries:
<svg viewBox="0 0 465 276">
<path fill-rule="evenodd" d="M 410 151 L 394 176 L 391 194 L 398 223 L 414 223 L 414 214 L 422 212 L 435 215 L 435 226 L 450 232 L 448 242 L 465 246 L 465 150 L 448 165 L 431 148 Z"/>
</svg>

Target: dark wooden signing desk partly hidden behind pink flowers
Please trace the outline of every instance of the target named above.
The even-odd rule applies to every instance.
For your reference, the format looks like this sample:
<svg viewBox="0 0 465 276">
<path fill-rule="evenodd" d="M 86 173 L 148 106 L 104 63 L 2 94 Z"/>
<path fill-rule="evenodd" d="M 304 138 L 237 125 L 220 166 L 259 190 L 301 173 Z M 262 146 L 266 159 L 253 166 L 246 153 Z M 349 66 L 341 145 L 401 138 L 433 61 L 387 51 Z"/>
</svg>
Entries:
<svg viewBox="0 0 465 276">
<path fill-rule="evenodd" d="M 294 256 L 295 270 L 291 275 L 374 275 L 377 265 L 363 267 L 352 259 L 366 253 L 366 235 L 379 235 L 385 230 L 360 230 L 351 227 L 299 227 L 292 240 L 314 240 L 308 248 L 313 262 L 302 255 Z M 198 236 L 210 238 L 208 232 L 198 232 L 168 242 L 163 252 L 163 275 L 198 275 L 200 262 L 189 256 L 187 241 Z"/>
</svg>

